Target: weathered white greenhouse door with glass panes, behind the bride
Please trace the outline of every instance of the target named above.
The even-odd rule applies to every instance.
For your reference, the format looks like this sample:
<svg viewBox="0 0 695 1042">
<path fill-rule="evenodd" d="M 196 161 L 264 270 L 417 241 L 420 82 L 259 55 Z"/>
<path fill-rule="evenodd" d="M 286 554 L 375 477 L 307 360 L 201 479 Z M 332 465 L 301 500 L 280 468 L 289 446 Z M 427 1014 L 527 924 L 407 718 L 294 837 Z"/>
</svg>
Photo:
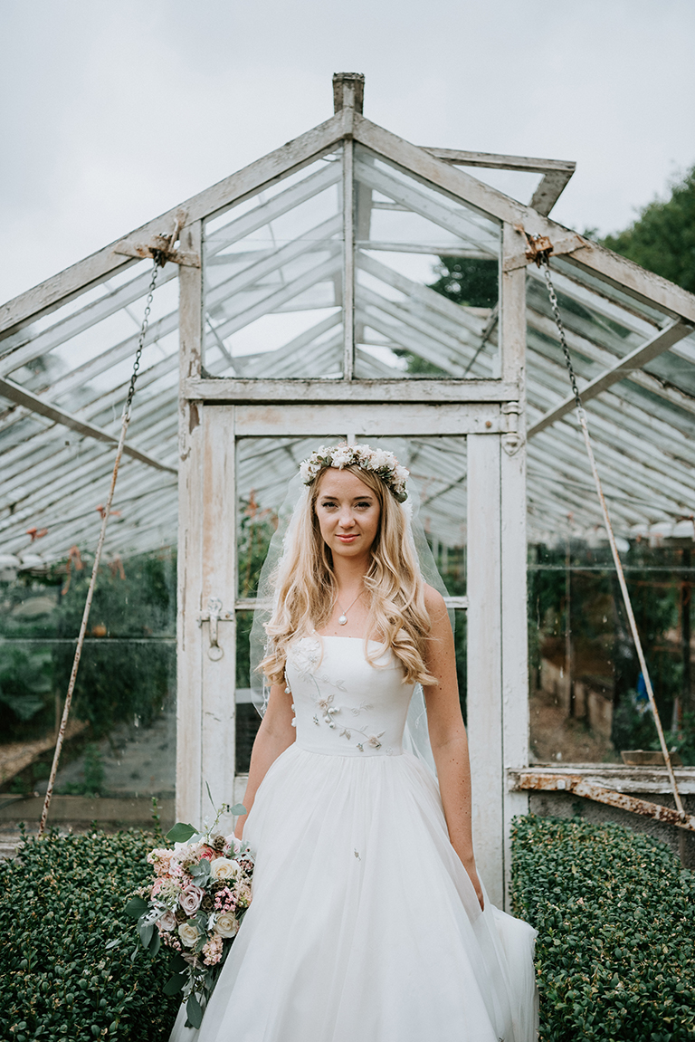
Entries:
<svg viewBox="0 0 695 1042">
<path fill-rule="evenodd" d="M 372 386 L 363 395 L 377 397 L 384 390 Z M 353 389 L 353 399 L 355 394 Z M 178 817 L 197 821 L 212 812 L 207 786 L 216 803 L 243 796 L 255 729 L 249 689 L 258 683 L 249 680 L 247 658 L 255 579 L 288 481 L 317 445 L 368 441 L 394 449 L 411 469 L 421 518 L 450 591 L 461 686 L 468 691 L 477 857 L 491 893 L 501 899 L 500 838 L 505 815 L 515 813 L 514 796 L 503 792 L 505 673 L 508 687 L 515 669 L 516 683 L 524 681 L 523 640 L 507 648 L 506 670 L 503 644 L 514 645 L 515 632 L 525 636 L 525 620 L 518 593 L 507 593 L 503 603 L 512 572 L 521 567 L 523 574 L 524 555 L 518 542 L 523 525 L 502 524 L 503 474 L 506 496 L 518 496 L 522 473 L 501 447 L 499 402 L 200 400 L 188 407 L 179 542 Z M 516 516 L 523 517 L 522 511 Z M 503 582 L 504 557 L 512 565 Z M 511 713 L 510 706 L 507 727 Z M 525 740 L 523 722 L 521 730 Z"/>
</svg>

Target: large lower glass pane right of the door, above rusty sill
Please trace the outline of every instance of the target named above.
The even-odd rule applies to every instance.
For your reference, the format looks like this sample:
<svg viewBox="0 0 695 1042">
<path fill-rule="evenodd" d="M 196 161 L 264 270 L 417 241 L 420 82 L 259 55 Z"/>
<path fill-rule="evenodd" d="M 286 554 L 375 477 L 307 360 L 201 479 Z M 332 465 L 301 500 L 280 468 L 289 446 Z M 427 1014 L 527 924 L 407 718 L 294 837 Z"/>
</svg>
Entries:
<svg viewBox="0 0 695 1042">
<path fill-rule="evenodd" d="M 621 550 L 667 743 L 690 765 L 692 545 L 631 540 Z M 605 540 L 537 544 L 528 569 L 531 763 L 611 764 L 659 750 Z"/>
</svg>

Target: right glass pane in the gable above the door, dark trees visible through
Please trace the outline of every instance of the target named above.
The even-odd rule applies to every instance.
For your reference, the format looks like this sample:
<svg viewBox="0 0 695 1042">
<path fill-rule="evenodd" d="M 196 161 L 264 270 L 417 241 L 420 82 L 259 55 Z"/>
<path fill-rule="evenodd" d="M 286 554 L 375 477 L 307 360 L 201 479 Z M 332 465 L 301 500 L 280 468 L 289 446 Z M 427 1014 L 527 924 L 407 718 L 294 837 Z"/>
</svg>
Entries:
<svg viewBox="0 0 695 1042">
<path fill-rule="evenodd" d="M 356 146 L 355 374 L 497 377 L 501 228 Z"/>
</svg>

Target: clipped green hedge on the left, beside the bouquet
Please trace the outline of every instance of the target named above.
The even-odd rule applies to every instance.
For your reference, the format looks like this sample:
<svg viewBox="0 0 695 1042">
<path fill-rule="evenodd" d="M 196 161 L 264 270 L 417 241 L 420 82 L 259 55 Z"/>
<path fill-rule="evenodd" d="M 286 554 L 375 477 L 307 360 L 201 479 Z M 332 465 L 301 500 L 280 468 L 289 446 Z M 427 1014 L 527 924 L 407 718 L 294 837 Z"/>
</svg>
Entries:
<svg viewBox="0 0 695 1042">
<path fill-rule="evenodd" d="M 166 960 L 147 954 L 123 911 L 151 877 L 152 846 L 135 830 L 49 834 L 0 865 L 3 1042 L 169 1037 L 178 999 L 163 993 Z"/>
</svg>

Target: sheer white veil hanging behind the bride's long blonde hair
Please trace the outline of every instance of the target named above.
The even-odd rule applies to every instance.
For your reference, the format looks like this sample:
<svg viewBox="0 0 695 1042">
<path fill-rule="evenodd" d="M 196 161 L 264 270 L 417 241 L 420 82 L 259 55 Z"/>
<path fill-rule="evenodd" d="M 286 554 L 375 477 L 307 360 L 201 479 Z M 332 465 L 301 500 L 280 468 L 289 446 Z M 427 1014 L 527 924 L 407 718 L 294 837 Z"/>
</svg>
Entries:
<svg viewBox="0 0 695 1042">
<path fill-rule="evenodd" d="M 278 514 L 277 529 L 270 542 L 268 554 L 260 570 L 258 579 L 258 592 L 256 609 L 253 613 L 253 624 L 250 636 L 250 687 L 253 695 L 253 703 L 260 714 L 266 712 L 268 704 L 269 689 L 266 678 L 258 671 L 258 664 L 266 655 L 266 623 L 269 621 L 275 597 L 275 577 L 281 568 L 282 559 L 295 532 L 295 524 L 299 517 L 298 507 L 303 504 L 311 495 L 311 489 L 305 486 L 299 474 L 296 474 L 290 481 L 284 502 Z M 425 530 L 420 521 L 420 493 L 417 481 L 409 477 L 407 480 L 407 499 L 400 504 L 405 517 L 406 528 L 412 545 L 416 551 L 420 563 L 420 571 L 425 582 L 438 590 L 442 596 L 447 596 L 444 580 L 439 573 L 435 557 L 425 537 Z M 451 628 L 454 626 L 454 613 L 449 610 Z M 407 713 L 407 721 L 403 735 L 403 747 L 413 752 L 429 770 L 436 774 L 435 758 L 432 756 L 429 744 L 429 734 L 427 730 L 427 711 L 422 686 L 416 685 L 411 705 Z"/>
</svg>

